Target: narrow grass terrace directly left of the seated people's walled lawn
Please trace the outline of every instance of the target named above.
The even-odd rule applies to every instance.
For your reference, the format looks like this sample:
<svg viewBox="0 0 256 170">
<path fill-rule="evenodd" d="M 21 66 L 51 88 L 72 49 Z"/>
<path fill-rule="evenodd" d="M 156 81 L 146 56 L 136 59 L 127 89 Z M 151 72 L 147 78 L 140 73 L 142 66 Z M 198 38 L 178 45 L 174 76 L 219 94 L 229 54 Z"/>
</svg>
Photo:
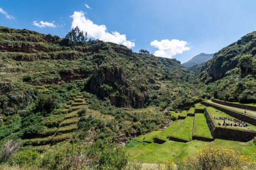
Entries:
<svg viewBox="0 0 256 170">
<path fill-rule="evenodd" d="M 195 113 L 194 123 L 194 135 L 212 138 L 210 129 L 207 125 L 206 118 L 204 117 L 203 113 Z"/>
</svg>

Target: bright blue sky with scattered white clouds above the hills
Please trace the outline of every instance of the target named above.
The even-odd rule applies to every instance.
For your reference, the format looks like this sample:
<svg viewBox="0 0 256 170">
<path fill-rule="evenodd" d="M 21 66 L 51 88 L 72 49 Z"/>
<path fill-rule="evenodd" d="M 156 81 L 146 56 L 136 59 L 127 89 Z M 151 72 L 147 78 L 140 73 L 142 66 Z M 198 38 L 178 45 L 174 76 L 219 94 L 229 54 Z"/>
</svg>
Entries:
<svg viewBox="0 0 256 170">
<path fill-rule="evenodd" d="M 256 0 L 0 0 L 0 26 L 88 36 L 182 63 L 256 30 Z"/>
</svg>

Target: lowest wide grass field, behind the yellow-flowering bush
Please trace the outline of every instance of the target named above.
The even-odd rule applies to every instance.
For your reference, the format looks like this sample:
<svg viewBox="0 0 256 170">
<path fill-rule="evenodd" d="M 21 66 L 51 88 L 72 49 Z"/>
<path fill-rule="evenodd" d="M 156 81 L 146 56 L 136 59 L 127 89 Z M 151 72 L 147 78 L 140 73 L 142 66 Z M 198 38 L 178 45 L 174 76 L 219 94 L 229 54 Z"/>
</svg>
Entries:
<svg viewBox="0 0 256 170">
<path fill-rule="evenodd" d="M 214 142 L 191 141 L 165 142 L 163 144 L 145 143 L 130 141 L 125 149 L 130 160 L 141 161 L 142 163 L 164 164 L 167 160 L 178 161 L 184 157 L 192 156 L 198 149 L 207 144 L 214 144 L 232 148 L 246 155 L 252 155 L 256 159 L 256 146 L 253 142 L 235 142 L 225 140 L 215 140 Z"/>
</svg>

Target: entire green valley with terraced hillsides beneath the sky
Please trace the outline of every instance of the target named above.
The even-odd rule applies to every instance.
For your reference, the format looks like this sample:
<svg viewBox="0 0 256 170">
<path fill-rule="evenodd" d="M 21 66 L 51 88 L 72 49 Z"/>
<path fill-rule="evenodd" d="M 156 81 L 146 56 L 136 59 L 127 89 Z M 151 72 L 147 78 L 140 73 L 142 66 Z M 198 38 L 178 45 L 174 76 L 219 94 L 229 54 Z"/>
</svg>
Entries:
<svg viewBox="0 0 256 170">
<path fill-rule="evenodd" d="M 67 37 L 0 27 L 0 146 L 16 145 L 0 168 L 181 170 L 209 155 L 256 167 L 256 32 L 200 71 Z"/>
</svg>

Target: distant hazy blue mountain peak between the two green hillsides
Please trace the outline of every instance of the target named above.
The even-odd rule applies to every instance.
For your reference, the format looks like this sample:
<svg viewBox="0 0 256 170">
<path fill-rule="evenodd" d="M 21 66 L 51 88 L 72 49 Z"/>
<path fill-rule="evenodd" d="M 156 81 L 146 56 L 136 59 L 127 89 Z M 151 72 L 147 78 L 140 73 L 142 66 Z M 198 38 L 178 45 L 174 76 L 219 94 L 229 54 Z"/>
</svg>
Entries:
<svg viewBox="0 0 256 170">
<path fill-rule="evenodd" d="M 188 62 L 183 63 L 182 65 L 184 65 L 185 67 L 192 67 L 194 65 L 199 65 L 199 64 L 202 64 L 203 62 L 206 62 L 206 61 L 212 59 L 213 55 L 214 54 L 201 53 L 201 54 L 193 57 Z"/>
</svg>

